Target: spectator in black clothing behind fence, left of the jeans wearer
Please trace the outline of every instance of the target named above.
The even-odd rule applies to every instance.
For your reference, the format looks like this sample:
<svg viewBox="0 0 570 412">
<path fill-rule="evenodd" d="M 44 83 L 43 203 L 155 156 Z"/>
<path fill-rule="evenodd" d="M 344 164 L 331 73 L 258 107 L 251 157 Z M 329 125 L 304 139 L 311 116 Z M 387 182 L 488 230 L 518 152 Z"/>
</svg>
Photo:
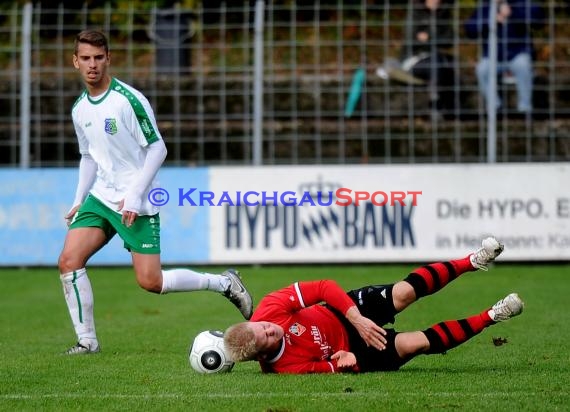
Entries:
<svg viewBox="0 0 570 412">
<path fill-rule="evenodd" d="M 408 15 L 406 41 L 401 50 L 402 68 L 428 86 L 433 110 L 456 107 L 453 45 L 453 0 L 413 0 Z"/>
</svg>

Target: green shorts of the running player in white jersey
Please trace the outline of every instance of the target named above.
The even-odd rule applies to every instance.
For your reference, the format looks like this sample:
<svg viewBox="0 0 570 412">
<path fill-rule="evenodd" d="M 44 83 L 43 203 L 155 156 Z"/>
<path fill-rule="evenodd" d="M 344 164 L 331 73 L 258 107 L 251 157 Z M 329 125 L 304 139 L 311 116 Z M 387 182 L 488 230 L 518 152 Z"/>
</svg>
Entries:
<svg viewBox="0 0 570 412">
<path fill-rule="evenodd" d="M 70 229 L 98 227 L 105 232 L 107 241 L 119 234 L 125 249 L 147 255 L 160 253 L 160 217 L 138 216 L 131 227 L 121 222 L 122 215 L 105 206 L 93 195 L 87 196 L 75 214 Z"/>
</svg>

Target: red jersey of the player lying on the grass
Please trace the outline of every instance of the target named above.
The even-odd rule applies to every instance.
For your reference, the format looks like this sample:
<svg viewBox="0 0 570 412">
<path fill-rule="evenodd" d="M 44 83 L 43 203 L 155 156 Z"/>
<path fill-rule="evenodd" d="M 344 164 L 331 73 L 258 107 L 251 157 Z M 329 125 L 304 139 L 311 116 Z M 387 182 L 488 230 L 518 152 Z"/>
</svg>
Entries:
<svg viewBox="0 0 570 412">
<path fill-rule="evenodd" d="M 346 292 L 332 280 L 297 282 L 265 296 L 251 321 L 273 322 L 285 332 L 281 349 L 260 361 L 263 372 L 331 373 L 337 371 L 330 357 L 349 351 L 348 333 L 326 302 L 342 314 L 354 306 Z"/>
</svg>

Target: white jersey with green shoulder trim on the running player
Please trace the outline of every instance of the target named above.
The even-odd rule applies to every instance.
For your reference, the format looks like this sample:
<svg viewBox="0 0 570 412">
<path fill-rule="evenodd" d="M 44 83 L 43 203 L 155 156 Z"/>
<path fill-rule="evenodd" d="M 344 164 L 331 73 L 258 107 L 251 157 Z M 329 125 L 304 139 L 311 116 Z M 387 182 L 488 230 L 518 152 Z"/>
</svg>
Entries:
<svg viewBox="0 0 570 412">
<path fill-rule="evenodd" d="M 145 147 L 162 139 L 150 103 L 144 95 L 113 78 L 104 96 L 94 100 L 87 91 L 71 111 L 82 155 L 97 163 L 97 177 L 91 193 L 112 210 L 125 198 L 143 168 Z M 142 197 L 141 215 L 154 215 L 158 208 Z"/>
</svg>

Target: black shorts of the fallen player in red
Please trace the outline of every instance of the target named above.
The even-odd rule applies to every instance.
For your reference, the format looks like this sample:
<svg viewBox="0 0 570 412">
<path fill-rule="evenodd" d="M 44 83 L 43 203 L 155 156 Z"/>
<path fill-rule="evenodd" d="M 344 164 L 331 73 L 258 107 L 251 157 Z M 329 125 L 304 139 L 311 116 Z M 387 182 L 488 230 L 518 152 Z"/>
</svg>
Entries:
<svg viewBox="0 0 570 412">
<path fill-rule="evenodd" d="M 366 286 L 351 290 L 348 292 L 348 296 L 356 304 L 362 316 L 384 327 L 388 323 L 394 323 L 395 316 L 398 313 L 394 308 L 394 301 L 392 300 L 393 286 Z M 330 306 L 328 307 L 331 309 Z M 395 341 L 398 332 L 394 329 L 384 328 L 387 332 L 386 349 L 380 351 L 372 346 L 367 346 L 356 328 L 352 326 L 343 314 L 334 309 L 331 310 L 342 321 L 348 332 L 350 351 L 356 356 L 361 372 L 395 371 L 407 362 L 407 360 L 400 358 L 398 352 L 396 352 Z"/>
</svg>

